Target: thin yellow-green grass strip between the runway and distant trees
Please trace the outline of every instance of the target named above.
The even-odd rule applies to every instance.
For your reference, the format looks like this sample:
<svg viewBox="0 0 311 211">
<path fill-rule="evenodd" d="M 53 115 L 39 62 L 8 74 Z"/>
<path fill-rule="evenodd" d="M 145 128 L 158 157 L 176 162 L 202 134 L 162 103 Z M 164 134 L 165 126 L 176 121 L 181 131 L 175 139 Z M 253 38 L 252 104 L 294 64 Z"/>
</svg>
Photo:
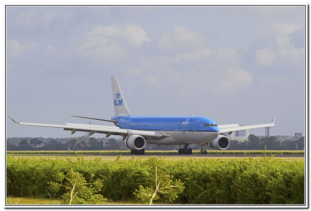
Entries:
<svg viewBox="0 0 311 211">
<path fill-rule="evenodd" d="M 130 155 L 130 150 L 79 150 L 81 154 L 86 155 Z M 265 150 L 207 150 L 208 155 L 263 155 Z M 267 154 L 271 155 L 304 155 L 304 150 L 268 150 Z M 58 151 L 7 151 L 9 155 L 74 155 L 74 151 L 70 150 L 58 150 Z M 200 150 L 193 150 L 193 155 L 200 155 Z M 177 150 L 146 150 L 145 155 L 178 155 Z"/>
</svg>

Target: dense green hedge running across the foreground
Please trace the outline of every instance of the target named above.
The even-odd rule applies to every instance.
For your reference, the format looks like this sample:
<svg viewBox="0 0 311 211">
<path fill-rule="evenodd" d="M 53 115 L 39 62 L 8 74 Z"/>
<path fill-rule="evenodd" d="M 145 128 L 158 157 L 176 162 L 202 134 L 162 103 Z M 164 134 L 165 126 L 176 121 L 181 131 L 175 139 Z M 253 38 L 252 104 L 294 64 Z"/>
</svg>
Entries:
<svg viewBox="0 0 311 211">
<path fill-rule="evenodd" d="M 66 194 L 65 187 L 53 188 L 59 175 L 79 172 L 86 181 L 99 179 L 97 193 L 112 201 L 135 200 L 140 186 L 156 166 L 183 183 L 174 204 L 304 204 L 304 161 L 291 162 L 273 157 L 231 160 L 120 160 L 100 158 L 77 161 L 29 159 L 7 156 L 7 196 L 42 197 L 47 191 L 53 199 Z M 150 182 L 149 182 L 150 183 Z M 48 196 L 46 196 L 48 197 Z M 166 203 L 160 198 L 158 203 Z"/>
</svg>

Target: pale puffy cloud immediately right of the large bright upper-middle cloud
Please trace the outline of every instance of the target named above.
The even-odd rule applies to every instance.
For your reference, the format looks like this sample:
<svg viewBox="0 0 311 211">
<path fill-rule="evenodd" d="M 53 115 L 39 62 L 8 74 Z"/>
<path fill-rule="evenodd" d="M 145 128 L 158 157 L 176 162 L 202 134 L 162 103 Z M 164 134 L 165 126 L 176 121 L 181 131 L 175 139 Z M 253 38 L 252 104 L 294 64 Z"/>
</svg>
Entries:
<svg viewBox="0 0 311 211">
<path fill-rule="evenodd" d="M 172 32 L 164 32 L 159 46 L 165 50 L 200 49 L 206 38 L 199 32 L 183 26 L 174 26 Z"/>
</svg>

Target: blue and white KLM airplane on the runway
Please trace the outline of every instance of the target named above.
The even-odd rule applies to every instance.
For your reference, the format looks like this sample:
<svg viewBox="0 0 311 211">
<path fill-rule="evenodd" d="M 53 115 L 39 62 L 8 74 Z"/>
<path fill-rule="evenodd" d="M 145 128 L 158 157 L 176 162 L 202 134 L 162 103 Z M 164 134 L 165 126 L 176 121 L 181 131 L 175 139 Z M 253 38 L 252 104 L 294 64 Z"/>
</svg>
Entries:
<svg viewBox="0 0 311 211">
<path fill-rule="evenodd" d="M 184 145 L 178 149 L 178 154 L 192 154 L 189 144 L 201 144 L 201 154 L 207 154 L 208 144 L 216 150 L 225 150 L 229 147 L 230 141 L 224 133 L 231 134 L 236 130 L 246 130 L 253 128 L 274 126 L 275 118 L 270 123 L 259 125 L 217 125 L 217 123 L 205 116 L 133 116 L 126 106 L 116 76 L 110 76 L 114 112 L 115 116 L 111 120 L 104 120 L 86 116 L 76 116 L 87 119 L 108 121 L 115 126 L 86 125 L 76 123 L 66 123 L 66 125 L 41 124 L 18 122 L 11 116 L 9 118 L 20 125 L 32 125 L 42 127 L 63 128 L 70 130 L 71 134 L 76 131 L 89 132 L 89 136 L 94 133 L 110 135 L 120 135 L 123 143 L 131 149 L 132 155 L 144 155 L 145 145 Z M 74 116 L 74 115 L 71 115 Z"/>
</svg>

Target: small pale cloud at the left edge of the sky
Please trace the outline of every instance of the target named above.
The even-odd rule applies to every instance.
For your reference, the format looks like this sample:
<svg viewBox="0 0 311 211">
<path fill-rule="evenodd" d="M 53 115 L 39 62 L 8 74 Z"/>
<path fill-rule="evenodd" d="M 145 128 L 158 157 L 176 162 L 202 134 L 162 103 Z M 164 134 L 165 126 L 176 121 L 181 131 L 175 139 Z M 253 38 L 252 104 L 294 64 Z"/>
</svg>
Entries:
<svg viewBox="0 0 311 211">
<path fill-rule="evenodd" d="M 19 57 L 22 53 L 29 53 L 39 48 L 36 42 L 20 43 L 17 40 L 7 40 L 7 55 Z"/>
</svg>

